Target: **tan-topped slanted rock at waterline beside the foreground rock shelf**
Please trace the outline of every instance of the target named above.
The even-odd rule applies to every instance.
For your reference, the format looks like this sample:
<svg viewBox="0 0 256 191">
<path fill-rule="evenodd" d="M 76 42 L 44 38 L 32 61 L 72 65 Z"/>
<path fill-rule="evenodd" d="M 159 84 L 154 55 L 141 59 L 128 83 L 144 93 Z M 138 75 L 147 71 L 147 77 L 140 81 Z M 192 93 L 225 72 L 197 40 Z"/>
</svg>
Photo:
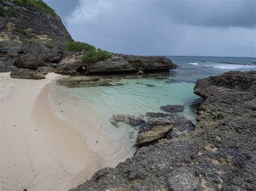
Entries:
<svg viewBox="0 0 256 191">
<path fill-rule="evenodd" d="M 138 142 L 140 145 L 144 145 L 163 138 L 172 128 L 173 125 L 157 125 L 149 131 L 141 131 L 138 133 Z"/>
</svg>

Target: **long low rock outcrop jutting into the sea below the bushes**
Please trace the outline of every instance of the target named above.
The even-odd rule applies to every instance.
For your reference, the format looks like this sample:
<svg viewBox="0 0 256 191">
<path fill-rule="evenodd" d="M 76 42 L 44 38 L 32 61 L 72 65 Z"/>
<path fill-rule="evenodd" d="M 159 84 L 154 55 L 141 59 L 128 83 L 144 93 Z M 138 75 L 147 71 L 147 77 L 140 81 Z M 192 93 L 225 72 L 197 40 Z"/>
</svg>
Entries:
<svg viewBox="0 0 256 191">
<path fill-rule="evenodd" d="M 80 67 L 86 68 L 86 74 L 126 74 L 150 72 L 169 72 L 177 68 L 165 56 L 136 56 L 112 53 L 111 58 L 105 61 L 86 64 L 82 58 L 85 52 L 71 53 L 57 65 L 59 74 L 80 75 Z M 140 72 L 141 73 L 141 72 Z"/>
</svg>

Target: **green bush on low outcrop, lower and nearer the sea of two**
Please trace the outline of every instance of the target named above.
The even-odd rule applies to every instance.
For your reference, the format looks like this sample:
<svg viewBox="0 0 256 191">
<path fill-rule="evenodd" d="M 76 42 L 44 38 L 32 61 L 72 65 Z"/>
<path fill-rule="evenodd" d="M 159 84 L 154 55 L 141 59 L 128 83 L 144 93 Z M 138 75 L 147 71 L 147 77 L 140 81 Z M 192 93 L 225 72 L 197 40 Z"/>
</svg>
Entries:
<svg viewBox="0 0 256 191">
<path fill-rule="evenodd" d="M 97 48 L 86 52 L 83 57 L 85 63 L 95 63 L 102 60 L 107 60 L 111 57 L 111 54 L 103 49 Z"/>
</svg>

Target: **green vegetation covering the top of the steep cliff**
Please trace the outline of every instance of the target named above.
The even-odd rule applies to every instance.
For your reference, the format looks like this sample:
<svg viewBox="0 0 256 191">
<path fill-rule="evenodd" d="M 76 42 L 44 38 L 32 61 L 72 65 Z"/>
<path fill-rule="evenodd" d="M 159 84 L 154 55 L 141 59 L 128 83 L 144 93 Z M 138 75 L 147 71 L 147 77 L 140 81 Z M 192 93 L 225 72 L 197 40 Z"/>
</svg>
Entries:
<svg viewBox="0 0 256 191">
<path fill-rule="evenodd" d="M 53 17 L 57 17 L 56 12 L 50 8 L 43 0 L 7 0 L 12 2 L 18 6 L 23 6 L 26 9 L 35 10 L 39 9 L 42 10 L 44 13 L 47 13 Z"/>
</svg>

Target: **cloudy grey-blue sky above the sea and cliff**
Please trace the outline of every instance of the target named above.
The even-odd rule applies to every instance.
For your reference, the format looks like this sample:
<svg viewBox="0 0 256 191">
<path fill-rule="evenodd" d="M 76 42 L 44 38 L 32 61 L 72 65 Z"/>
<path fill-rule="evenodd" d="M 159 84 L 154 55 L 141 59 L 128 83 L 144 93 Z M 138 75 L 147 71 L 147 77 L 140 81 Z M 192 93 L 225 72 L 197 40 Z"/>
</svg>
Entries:
<svg viewBox="0 0 256 191">
<path fill-rule="evenodd" d="M 256 57 L 255 0 L 44 0 L 74 40 L 138 55 Z"/>
</svg>

